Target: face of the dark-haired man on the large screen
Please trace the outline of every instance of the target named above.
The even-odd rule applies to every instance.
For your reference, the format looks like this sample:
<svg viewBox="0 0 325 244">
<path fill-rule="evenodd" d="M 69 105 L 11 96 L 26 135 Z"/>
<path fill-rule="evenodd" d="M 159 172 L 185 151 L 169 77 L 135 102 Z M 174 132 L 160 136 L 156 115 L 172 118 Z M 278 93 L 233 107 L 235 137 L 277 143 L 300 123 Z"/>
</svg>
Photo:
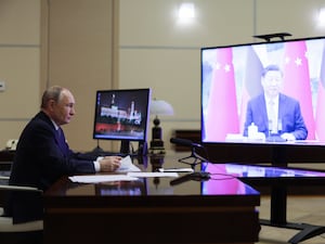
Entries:
<svg viewBox="0 0 325 244">
<path fill-rule="evenodd" d="M 283 77 L 281 72 L 278 70 L 268 72 L 265 76 L 262 77 L 262 87 L 266 95 L 271 98 L 276 97 L 282 89 L 282 84 L 283 84 L 282 81 L 283 81 Z"/>
</svg>

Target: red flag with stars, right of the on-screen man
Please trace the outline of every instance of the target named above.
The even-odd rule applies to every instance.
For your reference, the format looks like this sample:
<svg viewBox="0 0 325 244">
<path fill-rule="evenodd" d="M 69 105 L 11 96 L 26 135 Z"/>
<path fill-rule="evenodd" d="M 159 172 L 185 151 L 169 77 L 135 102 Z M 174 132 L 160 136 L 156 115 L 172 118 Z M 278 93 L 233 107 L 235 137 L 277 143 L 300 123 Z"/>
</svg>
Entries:
<svg viewBox="0 0 325 244">
<path fill-rule="evenodd" d="M 301 113 L 308 128 L 309 140 L 315 139 L 309 65 L 304 41 L 285 43 L 283 93 L 300 102 Z"/>
</svg>

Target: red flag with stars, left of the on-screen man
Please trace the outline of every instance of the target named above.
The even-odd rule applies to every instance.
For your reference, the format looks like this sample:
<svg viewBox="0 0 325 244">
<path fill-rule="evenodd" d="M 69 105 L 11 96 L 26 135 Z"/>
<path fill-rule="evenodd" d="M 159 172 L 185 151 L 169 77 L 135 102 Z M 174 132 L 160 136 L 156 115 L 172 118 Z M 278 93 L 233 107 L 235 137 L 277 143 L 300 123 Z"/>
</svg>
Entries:
<svg viewBox="0 0 325 244">
<path fill-rule="evenodd" d="M 227 133 L 238 133 L 238 112 L 232 49 L 219 49 L 207 106 L 206 140 L 224 141 Z"/>
</svg>

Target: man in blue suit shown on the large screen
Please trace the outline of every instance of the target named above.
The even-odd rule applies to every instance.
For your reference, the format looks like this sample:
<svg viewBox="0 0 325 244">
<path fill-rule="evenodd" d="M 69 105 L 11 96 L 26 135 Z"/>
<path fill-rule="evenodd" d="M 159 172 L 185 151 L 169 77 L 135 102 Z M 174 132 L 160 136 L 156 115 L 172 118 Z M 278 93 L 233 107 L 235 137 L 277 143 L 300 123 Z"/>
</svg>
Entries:
<svg viewBox="0 0 325 244">
<path fill-rule="evenodd" d="M 281 93 L 283 73 L 276 65 L 264 68 L 261 77 L 263 93 L 252 98 L 247 104 L 244 136 L 248 127 L 257 126 L 258 132 L 266 140 L 277 138 L 280 141 L 304 140 L 308 129 L 300 111 L 299 101 Z"/>
</svg>

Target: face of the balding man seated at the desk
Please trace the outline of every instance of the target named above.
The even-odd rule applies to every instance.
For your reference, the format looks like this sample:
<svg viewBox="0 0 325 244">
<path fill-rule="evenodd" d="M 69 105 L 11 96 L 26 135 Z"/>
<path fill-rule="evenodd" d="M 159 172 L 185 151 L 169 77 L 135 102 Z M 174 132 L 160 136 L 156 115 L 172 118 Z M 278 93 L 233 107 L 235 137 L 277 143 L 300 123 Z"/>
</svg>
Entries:
<svg viewBox="0 0 325 244">
<path fill-rule="evenodd" d="M 58 102 L 53 104 L 52 119 L 62 126 L 70 123 L 75 113 L 74 95 L 68 90 L 63 90 Z"/>
</svg>

